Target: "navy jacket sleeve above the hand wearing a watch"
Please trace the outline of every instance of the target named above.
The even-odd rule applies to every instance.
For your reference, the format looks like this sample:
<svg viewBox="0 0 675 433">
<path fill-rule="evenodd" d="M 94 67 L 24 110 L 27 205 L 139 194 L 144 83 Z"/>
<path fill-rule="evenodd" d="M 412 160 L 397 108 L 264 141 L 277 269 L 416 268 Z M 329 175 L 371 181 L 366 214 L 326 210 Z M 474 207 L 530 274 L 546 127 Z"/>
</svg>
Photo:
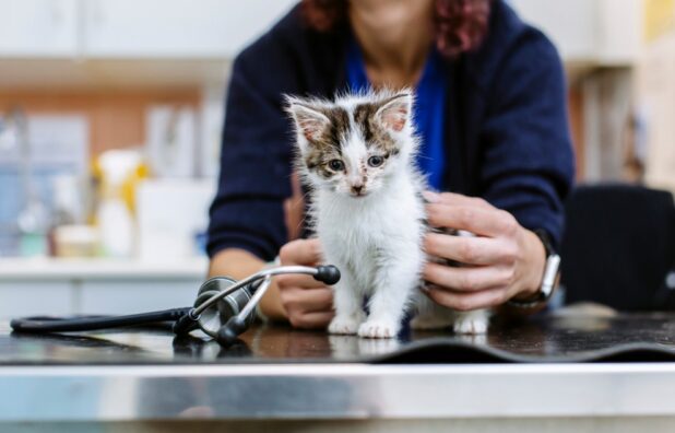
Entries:
<svg viewBox="0 0 675 433">
<path fill-rule="evenodd" d="M 526 31 L 502 61 L 481 140 L 481 197 L 559 247 L 575 155 L 562 63 L 541 32 Z"/>
</svg>

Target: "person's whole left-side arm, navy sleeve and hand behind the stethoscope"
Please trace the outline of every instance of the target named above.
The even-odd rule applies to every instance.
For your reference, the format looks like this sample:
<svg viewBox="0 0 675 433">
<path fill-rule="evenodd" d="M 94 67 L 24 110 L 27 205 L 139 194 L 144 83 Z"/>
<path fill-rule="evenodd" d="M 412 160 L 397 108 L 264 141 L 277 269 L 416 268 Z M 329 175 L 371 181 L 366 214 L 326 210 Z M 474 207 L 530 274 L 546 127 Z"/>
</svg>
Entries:
<svg viewBox="0 0 675 433">
<path fill-rule="evenodd" d="M 218 190 L 211 207 L 208 250 L 211 276 L 242 278 L 277 255 L 282 265 L 308 265 L 312 242 L 297 236 L 303 210 L 292 185 L 292 143 L 283 94 L 306 92 L 308 66 L 298 61 L 310 40 L 296 8 L 237 59 L 227 91 Z M 291 210 L 291 212 L 289 212 Z M 287 244 L 287 245 L 286 245 Z M 309 281 L 307 280 L 309 279 Z M 332 315 L 330 290 L 301 277 L 277 277 L 260 304 L 272 319 L 324 327 Z"/>
</svg>

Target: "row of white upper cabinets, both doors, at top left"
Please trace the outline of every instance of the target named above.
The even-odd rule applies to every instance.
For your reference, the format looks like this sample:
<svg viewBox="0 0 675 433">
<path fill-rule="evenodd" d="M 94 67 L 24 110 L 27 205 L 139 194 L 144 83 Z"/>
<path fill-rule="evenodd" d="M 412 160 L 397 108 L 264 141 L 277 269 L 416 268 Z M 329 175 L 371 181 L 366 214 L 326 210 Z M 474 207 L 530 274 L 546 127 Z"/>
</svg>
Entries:
<svg viewBox="0 0 675 433">
<path fill-rule="evenodd" d="M 230 58 L 295 0 L 0 0 L 0 56 Z"/>
</svg>

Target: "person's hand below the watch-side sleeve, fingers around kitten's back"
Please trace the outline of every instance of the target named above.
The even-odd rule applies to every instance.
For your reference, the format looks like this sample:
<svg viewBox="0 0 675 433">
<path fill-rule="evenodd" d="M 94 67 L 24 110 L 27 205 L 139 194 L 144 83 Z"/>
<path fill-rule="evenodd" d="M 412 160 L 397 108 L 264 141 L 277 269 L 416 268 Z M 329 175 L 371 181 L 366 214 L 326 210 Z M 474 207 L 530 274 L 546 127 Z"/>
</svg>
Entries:
<svg viewBox="0 0 675 433">
<path fill-rule="evenodd" d="M 463 230 L 476 236 L 429 233 L 430 256 L 463 267 L 429 262 L 424 269 L 425 293 L 458 311 L 494 307 L 512 297 L 526 299 L 540 288 L 546 253 L 541 239 L 508 212 L 479 198 L 425 192 L 427 219 L 434 227 Z"/>
</svg>

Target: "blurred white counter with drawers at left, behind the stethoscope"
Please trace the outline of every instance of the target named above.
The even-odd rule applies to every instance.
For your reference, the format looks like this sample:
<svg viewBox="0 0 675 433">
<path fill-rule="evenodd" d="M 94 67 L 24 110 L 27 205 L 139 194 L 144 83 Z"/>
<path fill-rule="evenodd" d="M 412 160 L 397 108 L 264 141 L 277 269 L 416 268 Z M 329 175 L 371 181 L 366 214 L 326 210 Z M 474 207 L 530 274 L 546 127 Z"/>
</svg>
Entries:
<svg viewBox="0 0 675 433">
<path fill-rule="evenodd" d="M 133 314 L 190 306 L 206 260 L 0 260 L 0 318 Z"/>
</svg>

